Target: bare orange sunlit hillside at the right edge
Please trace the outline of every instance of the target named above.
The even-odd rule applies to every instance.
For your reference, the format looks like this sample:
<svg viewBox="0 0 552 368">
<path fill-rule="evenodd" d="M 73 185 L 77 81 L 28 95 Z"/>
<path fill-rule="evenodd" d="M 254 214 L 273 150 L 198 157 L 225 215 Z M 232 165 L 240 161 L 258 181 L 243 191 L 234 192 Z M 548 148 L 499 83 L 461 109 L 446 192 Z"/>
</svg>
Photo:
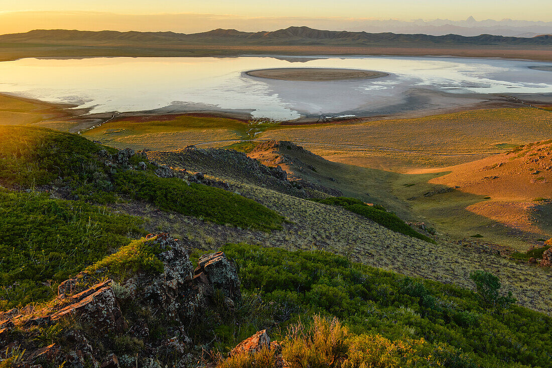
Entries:
<svg viewBox="0 0 552 368">
<path fill-rule="evenodd" d="M 552 141 L 470 162 L 429 183 L 458 187 L 484 200 L 467 206 L 513 230 L 552 236 Z"/>
</svg>

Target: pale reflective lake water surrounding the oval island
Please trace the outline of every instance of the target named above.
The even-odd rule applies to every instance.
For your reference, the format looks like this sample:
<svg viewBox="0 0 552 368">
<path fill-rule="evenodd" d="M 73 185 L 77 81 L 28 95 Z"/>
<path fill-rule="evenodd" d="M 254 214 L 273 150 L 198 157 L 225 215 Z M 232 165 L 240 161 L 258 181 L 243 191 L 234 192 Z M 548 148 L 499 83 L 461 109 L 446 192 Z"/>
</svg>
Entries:
<svg viewBox="0 0 552 368">
<path fill-rule="evenodd" d="M 552 94 L 547 62 L 438 57 L 97 57 L 0 62 L 0 92 L 91 113 L 237 111 L 290 120 L 300 116 L 376 115 L 416 105 L 433 91 L 454 96 Z M 297 82 L 247 76 L 275 67 L 358 68 L 389 73 L 361 81 Z M 443 100 L 445 93 L 445 100 Z M 455 102 L 458 103 L 458 102 Z M 465 102 L 464 102 L 465 103 Z M 410 106 L 410 107 L 409 107 Z"/>
</svg>

